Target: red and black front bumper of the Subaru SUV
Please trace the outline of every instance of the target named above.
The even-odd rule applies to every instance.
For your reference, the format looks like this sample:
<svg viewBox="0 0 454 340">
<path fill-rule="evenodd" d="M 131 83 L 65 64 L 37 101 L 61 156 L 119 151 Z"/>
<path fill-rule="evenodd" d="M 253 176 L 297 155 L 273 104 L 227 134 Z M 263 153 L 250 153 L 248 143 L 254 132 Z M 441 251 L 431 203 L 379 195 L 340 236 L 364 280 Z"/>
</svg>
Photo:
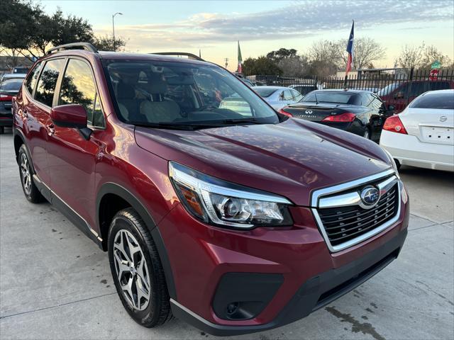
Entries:
<svg viewBox="0 0 454 340">
<path fill-rule="evenodd" d="M 176 205 L 158 224 L 175 283 L 172 311 L 189 324 L 219 336 L 271 329 L 301 319 L 360 285 L 397 257 L 409 217 L 406 194 L 401 197 L 401 210 L 393 225 L 336 253 L 328 250 L 309 208 L 291 208 L 292 227 L 239 232 L 205 225 Z M 232 274 L 241 282 L 253 282 L 251 273 L 262 275 L 267 284 L 263 280 L 245 284 L 244 289 L 236 289 L 240 293 L 231 293 L 223 284 L 223 278 Z M 216 301 L 228 302 L 230 296 L 233 302 L 250 302 L 243 297 L 251 294 L 253 300 L 263 303 L 246 308 L 250 317 L 228 318 L 219 312 L 226 305 L 219 307 Z"/>
</svg>

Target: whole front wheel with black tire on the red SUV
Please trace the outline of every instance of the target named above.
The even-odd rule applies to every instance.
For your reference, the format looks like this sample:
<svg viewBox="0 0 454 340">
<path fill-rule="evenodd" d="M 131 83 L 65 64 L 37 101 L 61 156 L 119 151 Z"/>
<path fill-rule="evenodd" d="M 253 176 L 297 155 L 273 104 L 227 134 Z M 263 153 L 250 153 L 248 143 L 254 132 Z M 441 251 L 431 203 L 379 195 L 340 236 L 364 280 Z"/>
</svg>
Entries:
<svg viewBox="0 0 454 340">
<path fill-rule="evenodd" d="M 111 273 L 123 307 L 135 322 L 155 327 L 172 317 L 155 242 L 138 212 L 119 211 L 108 237 Z"/>
</svg>

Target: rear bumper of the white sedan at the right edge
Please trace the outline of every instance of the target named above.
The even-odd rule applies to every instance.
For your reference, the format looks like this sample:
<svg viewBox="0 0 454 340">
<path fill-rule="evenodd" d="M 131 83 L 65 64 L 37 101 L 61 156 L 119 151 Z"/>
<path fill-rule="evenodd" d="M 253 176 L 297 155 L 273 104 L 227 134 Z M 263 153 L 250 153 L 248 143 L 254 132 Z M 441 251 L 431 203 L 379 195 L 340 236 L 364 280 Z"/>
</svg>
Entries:
<svg viewBox="0 0 454 340">
<path fill-rule="evenodd" d="M 400 164 L 425 169 L 454 171 L 454 147 L 421 142 L 413 135 L 382 131 L 380 146 Z"/>
</svg>

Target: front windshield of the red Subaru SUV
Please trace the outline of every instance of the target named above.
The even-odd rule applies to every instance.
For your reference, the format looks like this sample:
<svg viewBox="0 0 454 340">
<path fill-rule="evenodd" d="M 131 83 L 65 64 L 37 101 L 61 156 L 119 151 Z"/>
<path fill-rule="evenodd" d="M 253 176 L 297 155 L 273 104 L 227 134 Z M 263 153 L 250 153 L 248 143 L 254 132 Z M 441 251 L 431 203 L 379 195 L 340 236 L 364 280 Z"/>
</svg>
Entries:
<svg viewBox="0 0 454 340">
<path fill-rule="evenodd" d="M 133 60 L 105 63 L 119 118 L 126 123 L 165 128 L 279 123 L 270 106 L 220 67 Z"/>
</svg>

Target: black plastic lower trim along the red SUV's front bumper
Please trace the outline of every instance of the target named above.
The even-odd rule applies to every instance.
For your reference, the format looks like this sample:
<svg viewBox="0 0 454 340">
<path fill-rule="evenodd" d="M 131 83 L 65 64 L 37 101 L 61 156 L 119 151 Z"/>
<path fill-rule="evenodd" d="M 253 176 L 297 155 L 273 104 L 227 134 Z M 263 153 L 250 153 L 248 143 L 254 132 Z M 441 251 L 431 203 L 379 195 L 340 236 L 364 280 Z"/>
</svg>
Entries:
<svg viewBox="0 0 454 340">
<path fill-rule="evenodd" d="M 192 324 L 192 326 L 215 336 L 233 336 L 265 331 L 284 326 L 306 317 L 319 310 L 333 300 L 355 289 L 376 273 L 380 272 L 399 255 L 404 244 L 407 229 L 399 232 L 391 241 L 370 251 L 360 259 L 352 261 L 340 268 L 331 269 L 309 278 L 301 285 L 287 305 L 277 317 L 266 324 L 250 324 L 245 326 L 228 326 L 214 324 L 200 317 L 175 300 L 170 300 L 175 317 Z"/>
</svg>

